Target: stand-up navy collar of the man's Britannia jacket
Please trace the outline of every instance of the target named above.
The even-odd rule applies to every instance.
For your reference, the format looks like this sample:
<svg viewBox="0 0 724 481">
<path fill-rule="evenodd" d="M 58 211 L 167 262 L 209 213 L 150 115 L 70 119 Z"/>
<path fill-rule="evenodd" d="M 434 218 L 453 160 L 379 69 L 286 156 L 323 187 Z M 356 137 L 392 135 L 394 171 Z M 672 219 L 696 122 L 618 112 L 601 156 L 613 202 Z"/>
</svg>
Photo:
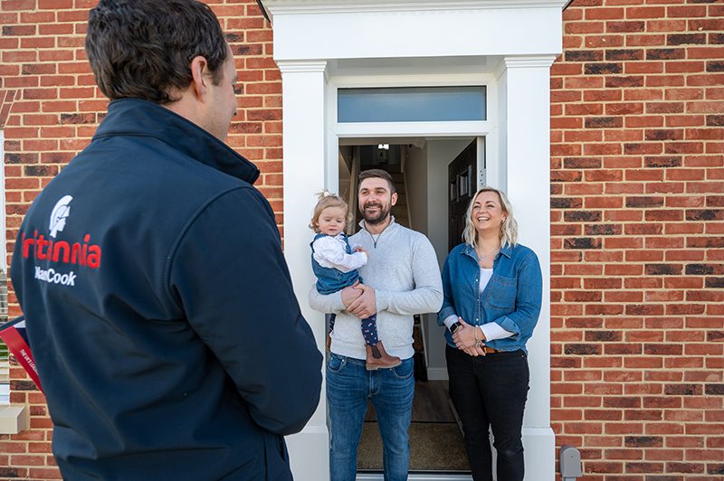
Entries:
<svg viewBox="0 0 724 481">
<path fill-rule="evenodd" d="M 168 108 L 142 99 L 110 102 L 93 139 L 109 136 L 155 137 L 196 161 L 253 184 L 259 169 L 221 140 Z"/>
</svg>

